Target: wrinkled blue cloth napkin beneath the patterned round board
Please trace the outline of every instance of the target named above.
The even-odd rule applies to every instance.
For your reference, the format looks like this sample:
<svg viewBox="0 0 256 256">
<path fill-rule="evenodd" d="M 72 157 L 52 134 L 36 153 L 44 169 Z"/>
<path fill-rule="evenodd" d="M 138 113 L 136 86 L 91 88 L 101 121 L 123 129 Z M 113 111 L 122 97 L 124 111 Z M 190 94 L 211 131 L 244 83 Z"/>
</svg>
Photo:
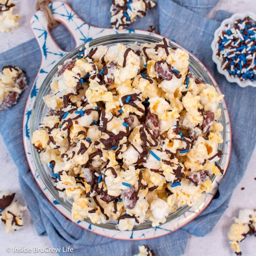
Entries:
<svg viewBox="0 0 256 256">
<path fill-rule="evenodd" d="M 177 4 L 176 4 L 176 3 Z M 54 247 L 71 246 L 74 255 L 127 256 L 138 251 L 138 245 L 149 244 L 156 255 L 181 255 L 190 234 L 204 236 L 209 233 L 228 206 L 231 194 L 246 170 L 256 140 L 256 90 L 252 87 L 241 88 L 226 81 L 217 72 L 212 62 L 210 43 L 214 31 L 222 18 L 228 14 L 217 14 L 218 21 L 204 16 L 217 0 L 158 0 L 154 9 L 146 17 L 138 19 L 131 28 L 147 30 L 150 25 L 156 32 L 174 39 L 194 53 L 210 70 L 217 80 L 230 114 L 232 128 L 232 150 L 228 171 L 219 186 L 220 196 L 215 198 L 195 220 L 183 228 L 156 239 L 147 241 L 119 241 L 93 234 L 70 222 L 48 202 L 37 186 L 29 170 L 22 141 L 22 118 L 26 98 L 39 69 L 41 56 L 39 47 L 32 39 L 5 53 L 0 54 L 0 67 L 17 65 L 26 71 L 29 87 L 17 105 L 8 111 L 0 112 L 0 133 L 19 170 L 20 186 L 39 235 L 48 235 Z M 193 3 L 193 4 L 191 4 Z M 180 4 L 180 5 L 178 5 Z M 110 27 L 110 5 L 106 0 L 74 0 L 73 9 L 91 25 Z M 99 12 L 100 10 L 100 12 Z M 68 31 L 62 26 L 52 32 L 61 42 L 64 50 L 74 46 Z M 60 253 L 60 255 L 64 255 Z"/>
</svg>

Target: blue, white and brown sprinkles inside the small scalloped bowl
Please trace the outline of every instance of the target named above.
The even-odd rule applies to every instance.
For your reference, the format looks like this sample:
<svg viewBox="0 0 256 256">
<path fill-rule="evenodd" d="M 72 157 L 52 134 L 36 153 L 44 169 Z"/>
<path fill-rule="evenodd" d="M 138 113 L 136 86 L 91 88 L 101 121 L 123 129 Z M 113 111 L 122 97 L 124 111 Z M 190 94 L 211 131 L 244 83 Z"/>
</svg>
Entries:
<svg viewBox="0 0 256 256">
<path fill-rule="evenodd" d="M 256 81 L 256 22 L 245 17 L 219 33 L 217 57 L 232 78 Z"/>
</svg>

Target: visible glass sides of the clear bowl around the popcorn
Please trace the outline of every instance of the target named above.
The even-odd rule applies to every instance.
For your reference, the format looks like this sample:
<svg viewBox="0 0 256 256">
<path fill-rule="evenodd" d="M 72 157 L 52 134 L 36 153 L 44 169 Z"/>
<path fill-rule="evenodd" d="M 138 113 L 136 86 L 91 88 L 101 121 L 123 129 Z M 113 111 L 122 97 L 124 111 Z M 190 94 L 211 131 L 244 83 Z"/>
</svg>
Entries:
<svg viewBox="0 0 256 256">
<path fill-rule="evenodd" d="M 142 43 L 158 43 L 160 42 L 161 39 L 153 36 L 147 36 L 147 35 L 142 35 L 142 34 L 114 34 L 110 36 L 104 36 L 100 37 L 97 39 L 94 39 L 90 41 L 90 47 L 96 47 L 99 45 L 105 45 L 105 46 L 112 46 L 117 43 L 122 43 L 125 44 L 126 46 L 137 43 L 138 45 Z M 173 48 L 179 48 L 177 44 L 174 42 L 169 42 L 170 46 Z M 63 59 L 59 61 L 55 65 L 55 67 L 52 69 L 52 71 L 48 74 L 47 78 L 44 80 L 43 84 L 41 85 L 36 101 L 34 102 L 33 106 L 33 111 L 31 115 L 31 134 L 38 129 L 39 124 L 42 122 L 43 117 L 46 116 L 48 113 L 49 109 L 46 106 L 46 104 L 43 101 L 43 96 L 46 96 L 47 94 L 50 93 L 51 88 L 50 88 L 50 82 L 54 78 L 54 76 L 58 72 L 58 66 L 63 65 L 63 62 L 67 59 L 72 59 L 75 60 L 77 58 L 77 53 L 79 52 L 79 49 L 84 46 L 77 47 L 73 51 L 71 51 L 69 54 L 67 54 Z M 209 73 L 206 71 L 206 69 L 203 68 L 203 66 L 199 63 L 199 61 L 194 58 L 191 54 L 189 56 L 189 70 L 191 73 L 196 75 L 197 78 L 202 78 L 204 83 L 210 84 L 216 87 L 215 81 L 211 78 Z M 219 122 L 223 124 L 223 131 L 220 132 L 222 134 L 224 142 L 222 144 L 219 144 L 218 149 L 221 151 L 224 151 L 224 146 L 225 146 L 225 141 L 226 141 L 226 120 L 225 120 L 225 114 L 224 114 L 224 107 L 222 103 L 219 103 L 218 108 L 221 109 L 221 114 L 219 118 Z M 52 170 L 49 168 L 49 165 L 43 164 L 40 160 L 40 155 L 37 153 L 37 150 L 32 146 L 32 155 L 34 162 L 36 164 L 38 173 L 41 177 L 41 179 L 44 182 L 44 185 L 47 187 L 47 189 L 50 191 L 52 194 L 52 197 L 55 198 L 59 204 L 61 204 L 64 208 L 66 208 L 69 212 L 71 212 L 73 200 L 71 199 L 66 199 L 62 198 L 59 196 L 59 192 L 54 188 L 54 182 L 52 179 Z M 218 165 L 221 165 L 223 160 L 223 157 L 218 160 Z M 224 170 L 225 172 L 225 170 Z M 211 176 L 210 179 L 214 181 L 215 176 Z M 43 189 L 43 188 L 42 188 Z M 166 223 L 170 222 L 171 220 L 179 217 L 183 213 L 187 212 L 190 209 L 189 206 L 184 206 L 180 207 L 176 210 L 176 212 L 169 214 L 169 216 L 166 218 Z M 198 209 L 199 210 L 202 209 Z M 90 219 L 85 219 L 85 222 L 91 223 L 93 225 L 99 226 L 101 228 L 106 228 L 106 229 L 115 229 L 116 230 L 116 225 L 117 221 L 116 220 L 111 220 L 108 223 L 101 223 L 101 224 L 95 224 L 92 223 Z M 134 226 L 133 230 L 140 230 L 140 229 L 147 229 L 147 228 L 152 228 L 151 221 L 149 219 L 146 219 L 142 224 Z"/>
</svg>

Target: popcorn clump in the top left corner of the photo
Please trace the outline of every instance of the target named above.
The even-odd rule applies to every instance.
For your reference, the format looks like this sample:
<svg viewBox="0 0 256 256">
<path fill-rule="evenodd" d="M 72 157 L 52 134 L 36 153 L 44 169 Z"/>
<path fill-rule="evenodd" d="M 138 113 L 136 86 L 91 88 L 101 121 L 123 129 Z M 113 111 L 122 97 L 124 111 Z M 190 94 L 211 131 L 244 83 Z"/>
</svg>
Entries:
<svg viewBox="0 0 256 256">
<path fill-rule="evenodd" d="M 0 0 L 0 32 L 9 32 L 11 28 L 18 26 L 16 20 L 19 16 L 12 14 L 15 8 L 12 0 Z"/>
</svg>

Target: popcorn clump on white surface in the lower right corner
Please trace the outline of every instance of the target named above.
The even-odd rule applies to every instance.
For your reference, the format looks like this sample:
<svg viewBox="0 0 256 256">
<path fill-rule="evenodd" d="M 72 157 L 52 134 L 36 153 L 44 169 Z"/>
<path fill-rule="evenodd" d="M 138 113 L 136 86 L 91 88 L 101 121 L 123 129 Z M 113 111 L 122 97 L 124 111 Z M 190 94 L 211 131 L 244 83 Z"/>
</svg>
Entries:
<svg viewBox="0 0 256 256">
<path fill-rule="evenodd" d="M 256 211 L 241 209 L 238 218 L 235 218 L 234 221 L 235 223 L 230 226 L 228 232 L 229 244 L 236 255 L 242 255 L 238 242 L 244 240 L 247 235 L 256 236 Z"/>
</svg>

